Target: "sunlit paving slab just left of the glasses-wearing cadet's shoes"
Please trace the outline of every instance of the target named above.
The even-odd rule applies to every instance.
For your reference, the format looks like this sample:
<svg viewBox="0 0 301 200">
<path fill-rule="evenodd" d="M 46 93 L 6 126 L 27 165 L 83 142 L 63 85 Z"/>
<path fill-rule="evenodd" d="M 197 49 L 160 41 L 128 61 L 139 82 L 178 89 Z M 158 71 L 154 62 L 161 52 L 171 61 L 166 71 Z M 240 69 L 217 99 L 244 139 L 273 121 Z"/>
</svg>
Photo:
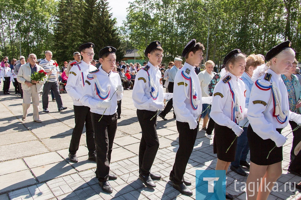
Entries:
<svg viewBox="0 0 301 200">
<path fill-rule="evenodd" d="M 29 168 L 35 168 L 42 165 L 48 165 L 55 162 L 61 162 L 64 159 L 56 152 L 44 153 L 36 156 L 24 158 Z"/>
</svg>

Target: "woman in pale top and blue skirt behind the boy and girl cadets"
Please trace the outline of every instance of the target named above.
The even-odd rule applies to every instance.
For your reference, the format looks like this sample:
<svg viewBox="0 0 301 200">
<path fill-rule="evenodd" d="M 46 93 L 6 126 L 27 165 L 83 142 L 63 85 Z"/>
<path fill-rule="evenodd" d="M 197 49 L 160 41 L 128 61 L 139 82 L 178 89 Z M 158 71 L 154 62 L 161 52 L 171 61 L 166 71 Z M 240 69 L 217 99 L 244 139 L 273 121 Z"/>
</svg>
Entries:
<svg viewBox="0 0 301 200">
<path fill-rule="evenodd" d="M 199 74 L 197 74 L 197 77 L 200 80 L 200 85 L 202 88 L 202 97 L 207 97 L 209 96 L 208 94 L 208 84 L 210 83 L 210 81 L 212 80 L 212 78 L 214 77 L 214 75 L 216 74 L 213 71 L 213 66 L 214 66 L 214 62 L 212 60 L 208 60 L 205 63 L 205 70 L 201 71 Z M 202 114 L 199 118 L 199 123 L 200 120 L 203 119 L 203 129 L 206 131 L 206 126 L 207 126 L 207 122 L 209 120 L 209 113 L 211 111 L 211 107 L 209 107 L 209 104 L 203 104 L 202 105 Z"/>
</svg>

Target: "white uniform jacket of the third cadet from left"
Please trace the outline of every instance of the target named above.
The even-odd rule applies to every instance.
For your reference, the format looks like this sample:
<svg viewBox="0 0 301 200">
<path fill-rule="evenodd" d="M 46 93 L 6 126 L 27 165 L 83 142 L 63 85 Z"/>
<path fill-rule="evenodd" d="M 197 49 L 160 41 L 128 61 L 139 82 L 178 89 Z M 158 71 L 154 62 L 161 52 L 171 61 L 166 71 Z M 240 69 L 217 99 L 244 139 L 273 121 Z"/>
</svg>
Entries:
<svg viewBox="0 0 301 200">
<path fill-rule="evenodd" d="M 132 98 L 134 106 L 137 109 L 157 111 L 157 108 L 154 107 L 155 102 L 163 103 L 164 101 L 163 86 L 160 83 L 161 72 L 158 66 L 155 67 L 150 62 L 148 62 L 147 65 L 149 66 L 148 71 L 145 71 L 144 68 L 141 68 L 136 75 Z M 154 80 L 154 84 L 157 88 L 158 96 L 156 99 L 151 96 L 150 79 L 148 78 L 147 72 Z"/>
</svg>

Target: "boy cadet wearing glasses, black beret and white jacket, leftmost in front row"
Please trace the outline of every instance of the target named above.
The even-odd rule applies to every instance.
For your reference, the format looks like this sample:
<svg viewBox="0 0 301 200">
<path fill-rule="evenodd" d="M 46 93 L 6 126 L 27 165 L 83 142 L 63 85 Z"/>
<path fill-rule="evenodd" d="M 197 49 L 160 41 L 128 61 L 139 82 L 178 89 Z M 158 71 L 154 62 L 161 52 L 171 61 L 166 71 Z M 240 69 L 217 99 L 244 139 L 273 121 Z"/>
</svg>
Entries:
<svg viewBox="0 0 301 200">
<path fill-rule="evenodd" d="M 79 141 L 82 135 L 84 125 L 86 127 L 86 142 L 89 150 L 88 160 L 96 162 L 94 131 L 91 121 L 91 112 L 88 106 L 84 106 L 79 102 L 85 86 L 85 80 L 89 71 L 96 70 L 96 67 L 91 64 L 94 56 L 94 44 L 91 42 L 79 46 L 79 51 L 83 57 L 81 62 L 74 64 L 70 70 L 69 79 L 66 85 L 66 91 L 73 101 L 75 127 L 72 132 L 72 137 L 69 146 L 70 162 L 78 162 L 76 151 L 79 148 Z"/>
</svg>

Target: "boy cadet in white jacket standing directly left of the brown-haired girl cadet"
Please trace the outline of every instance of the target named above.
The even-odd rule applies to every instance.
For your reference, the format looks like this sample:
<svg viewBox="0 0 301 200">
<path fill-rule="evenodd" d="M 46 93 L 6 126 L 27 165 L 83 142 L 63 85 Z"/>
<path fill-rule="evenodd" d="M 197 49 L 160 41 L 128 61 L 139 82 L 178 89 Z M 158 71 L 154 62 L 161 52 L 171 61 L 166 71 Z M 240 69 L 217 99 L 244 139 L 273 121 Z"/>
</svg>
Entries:
<svg viewBox="0 0 301 200">
<path fill-rule="evenodd" d="M 184 174 L 197 138 L 198 119 L 202 112 L 202 91 L 194 68 L 202 61 L 204 49 L 203 44 L 196 43 L 195 39 L 188 42 L 182 52 L 186 62 L 174 79 L 173 108 L 179 132 L 179 148 L 169 180 L 172 180 L 175 189 L 189 196 L 193 194 L 187 187 L 191 182 L 184 180 Z"/>
</svg>

